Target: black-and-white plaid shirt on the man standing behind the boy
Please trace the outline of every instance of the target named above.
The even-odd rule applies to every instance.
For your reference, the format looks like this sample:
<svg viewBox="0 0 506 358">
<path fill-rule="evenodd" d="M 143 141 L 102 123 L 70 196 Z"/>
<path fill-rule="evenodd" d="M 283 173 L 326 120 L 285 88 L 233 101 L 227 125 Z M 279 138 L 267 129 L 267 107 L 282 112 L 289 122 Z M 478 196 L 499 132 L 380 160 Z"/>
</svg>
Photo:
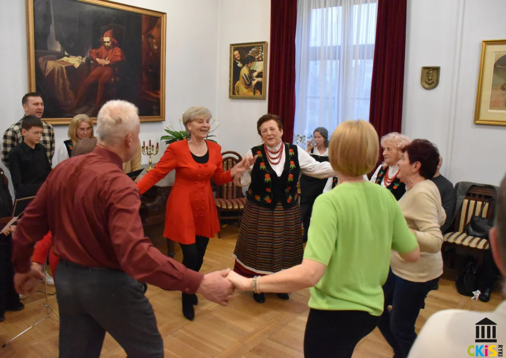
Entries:
<svg viewBox="0 0 506 358">
<path fill-rule="evenodd" d="M 46 154 L 48 154 L 49 163 L 53 165 L 53 156 L 55 155 L 55 131 L 53 126 L 49 123 L 42 121 L 44 126 L 42 132 L 42 138 L 40 138 L 40 144 L 46 148 Z M 4 133 L 4 140 L 2 141 L 2 163 L 9 168 L 9 152 L 12 148 L 23 141 L 23 135 L 21 134 L 21 121 L 9 127 Z"/>
</svg>

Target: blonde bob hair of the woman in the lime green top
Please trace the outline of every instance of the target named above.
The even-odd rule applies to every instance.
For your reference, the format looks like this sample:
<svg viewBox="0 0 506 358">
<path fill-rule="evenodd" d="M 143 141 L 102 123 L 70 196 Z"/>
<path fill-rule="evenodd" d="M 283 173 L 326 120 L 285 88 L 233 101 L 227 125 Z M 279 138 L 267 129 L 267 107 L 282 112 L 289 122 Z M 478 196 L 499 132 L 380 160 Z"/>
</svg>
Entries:
<svg viewBox="0 0 506 358">
<path fill-rule="evenodd" d="M 378 156 L 378 135 L 368 122 L 343 122 L 330 137 L 328 157 L 333 170 L 338 173 L 363 176 L 376 168 Z"/>
</svg>

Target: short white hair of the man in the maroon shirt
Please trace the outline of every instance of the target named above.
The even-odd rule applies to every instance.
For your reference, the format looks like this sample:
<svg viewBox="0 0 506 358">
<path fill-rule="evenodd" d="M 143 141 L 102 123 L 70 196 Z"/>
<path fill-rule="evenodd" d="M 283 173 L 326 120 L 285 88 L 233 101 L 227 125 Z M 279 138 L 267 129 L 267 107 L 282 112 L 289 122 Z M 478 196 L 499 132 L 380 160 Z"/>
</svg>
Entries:
<svg viewBox="0 0 506 358">
<path fill-rule="evenodd" d="M 112 100 L 102 106 L 97 117 L 97 136 L 101 142 L 115 145 L 140 125 L 139 110 L 126 101 Z"/>
</svg>

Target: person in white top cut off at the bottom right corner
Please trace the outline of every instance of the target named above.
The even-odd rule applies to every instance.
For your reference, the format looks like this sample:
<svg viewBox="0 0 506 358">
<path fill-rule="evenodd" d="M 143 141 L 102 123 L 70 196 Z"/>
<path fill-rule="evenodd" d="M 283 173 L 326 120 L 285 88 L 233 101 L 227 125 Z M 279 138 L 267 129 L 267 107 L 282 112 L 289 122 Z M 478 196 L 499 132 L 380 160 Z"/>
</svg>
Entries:
<svg viewBox="0 0 506 358">
<path fill-rule="evenodd" d="M 506 176 L 502 178 L 497 195 L 495 224 L 490 229 L 489 242 L 494 261 L 506 277 Z M 506 344 L 504 322 L 506 301 L 489 312 L 439 311 L 421 330 L 408 358 L 502 356 Z"/>
</svg>

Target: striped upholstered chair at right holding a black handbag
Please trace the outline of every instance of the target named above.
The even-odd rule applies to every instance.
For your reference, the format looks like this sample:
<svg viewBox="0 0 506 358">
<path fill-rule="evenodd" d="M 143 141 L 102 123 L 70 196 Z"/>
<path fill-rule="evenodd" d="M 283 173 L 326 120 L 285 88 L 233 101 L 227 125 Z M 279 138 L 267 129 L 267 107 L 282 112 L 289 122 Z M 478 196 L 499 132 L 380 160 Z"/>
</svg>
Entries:
<svg viewBox="0 0 506 358">
<path fill-rule="evenodd" d="M 452 232 L 444 235 L 445 245 L 458 246 L 471 250 L 480 250 L 480 261 L 483 254 L 490 245 L 488 240 L 481 237 L 469 236 L 466 234 L 466 226 L 473 215 L 479 215 L 483 206 L 482 217 L 493 219 L 495 205 L 495 191 L 491 188 L 482 188 L 472 186 L 464 201 L 462 207 L 457 212 L 454 219 Z"/>
</svg>

